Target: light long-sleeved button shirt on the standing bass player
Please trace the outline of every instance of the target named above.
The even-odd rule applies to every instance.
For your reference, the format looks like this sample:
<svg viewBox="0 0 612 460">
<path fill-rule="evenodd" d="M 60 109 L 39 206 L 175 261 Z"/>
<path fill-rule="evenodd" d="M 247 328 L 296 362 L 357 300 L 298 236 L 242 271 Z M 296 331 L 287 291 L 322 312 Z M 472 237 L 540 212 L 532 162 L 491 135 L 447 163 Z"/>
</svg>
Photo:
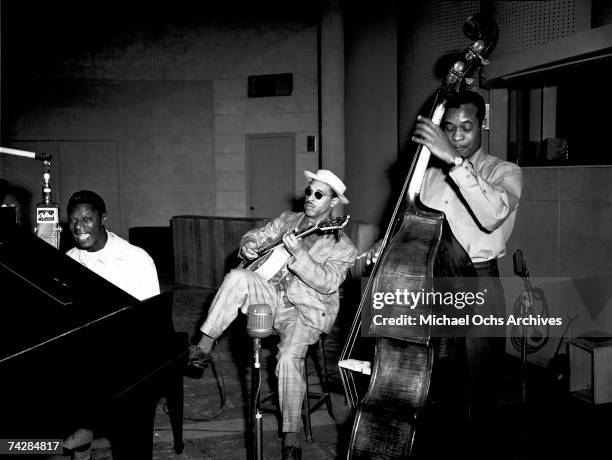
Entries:
<svg viewBox="0 0 612 460">
<path fill-rule="evenodd" d="M 506 254 L 522 187 L 518 165 L 480 148 L 448 173 L 428 168 L 420 198 L 424 205 L 444 212 L 472 262 L 484 262 Z"/>
</svg>

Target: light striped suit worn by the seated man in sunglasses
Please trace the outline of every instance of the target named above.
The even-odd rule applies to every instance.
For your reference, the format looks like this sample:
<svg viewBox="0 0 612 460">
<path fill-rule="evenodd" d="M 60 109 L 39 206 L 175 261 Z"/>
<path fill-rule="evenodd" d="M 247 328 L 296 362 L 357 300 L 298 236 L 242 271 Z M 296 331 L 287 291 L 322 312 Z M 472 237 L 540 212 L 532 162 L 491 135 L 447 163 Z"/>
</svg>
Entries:
<svg viewBox="0 0 612 460">
<path fill-rule="evenodd" d="M 254 241 L 263 247 L 298 227 L 304 213 L 284 212 L 262 228 L 247 232 L 240 246 Z M 201 331 L 219 337 L 238 315 L 255 303 L 267 303 L 274 314 L 274 329 L 280 335 L 276 375 L 283 432 L 300 429 L 300 411 L 306 384 L 304 356 L 322 332 L 329 332 L 338 314 L 338 288 L 357 249 L 342 235 L 308 237 L 309 247 L 298 258 L 291 257 L 286 267 L 272 280 L 248 270 L 234 269 L 223 280 L 210 306 Z"/>
</svg>

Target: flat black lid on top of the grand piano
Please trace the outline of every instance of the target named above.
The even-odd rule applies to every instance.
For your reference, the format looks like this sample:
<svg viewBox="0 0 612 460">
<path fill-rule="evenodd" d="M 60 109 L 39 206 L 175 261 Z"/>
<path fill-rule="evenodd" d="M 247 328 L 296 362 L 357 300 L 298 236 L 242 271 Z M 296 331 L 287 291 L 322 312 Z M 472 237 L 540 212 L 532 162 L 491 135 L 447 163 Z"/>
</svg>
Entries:
<svg viewBox="0 0 612 460">
<path fill-rule="evenodd" d="M 0 362 L 138 304 L 17 224 L 0 228 Z"/>
</svg>

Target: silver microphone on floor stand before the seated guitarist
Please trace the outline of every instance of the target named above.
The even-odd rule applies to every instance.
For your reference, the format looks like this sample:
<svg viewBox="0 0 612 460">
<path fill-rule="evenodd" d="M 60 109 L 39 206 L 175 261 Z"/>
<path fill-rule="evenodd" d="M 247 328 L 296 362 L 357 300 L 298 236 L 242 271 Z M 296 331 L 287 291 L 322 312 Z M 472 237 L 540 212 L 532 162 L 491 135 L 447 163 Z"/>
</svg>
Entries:
<svg viewBox="0 0 612 460">
<path fill-rule="evenodd" d="M 261 388 L 261 339 L 272 334 L 274 320 L 272 318 L 272 307 L 266 303 L 256 303 L 249 305 L 247 310 L 247 333 L 253 338 L 253 352 L 255 358 L 253 367 L 257 372 L 253 372 L 253 450 L 255 460 L 263 460 L 263 420 L 259 401 L 259 391 Z M 255 377 L 257 380 L 255 380 Z"/>
</svg>

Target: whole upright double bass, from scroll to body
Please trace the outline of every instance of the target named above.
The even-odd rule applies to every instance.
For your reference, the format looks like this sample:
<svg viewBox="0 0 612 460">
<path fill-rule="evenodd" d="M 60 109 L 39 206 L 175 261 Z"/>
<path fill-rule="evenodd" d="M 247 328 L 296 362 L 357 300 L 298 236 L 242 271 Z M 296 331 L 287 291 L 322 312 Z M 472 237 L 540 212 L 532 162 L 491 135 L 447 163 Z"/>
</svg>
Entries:
<svg viewBox="0 0 612 460">
<path fill-rule="evenodd" d="M 464 33 L 473 43 L 453 64 L 434 97 L 430 118 L 438 125 L 448 95 L 461 90 L 466 77 L 486 63 L 485 57 L 497 41 L 498 28 L 492 18 L 476 13 L 468 18 Z M 444 213 L 419 201 L 430 156 L 427 147 L 418 146 L 341 354 L 340 375 L 349 407 L 355 412 L 349 459 L 405 458 L 413 453 L 415 422 L 425 406 L 431 383 L 434 341 L 465 334 L 465 329 L 436 328 L 431 323 L 381 325 L 374 321 L 382 311 L 373 305 L 374 294 L 469 292 L 473 288 L 476 272 Z M 431 316 L 432 308 L 428 302 L 415 301 L 409 310 L 414 317 Z M 391 296 L 384 304 L 384 312 L 388 318 L 402 318 L 407 306 Z M 361 399 L 353 371 L 342 366 L 343 362 L 360 362 L 354 354 L 360 331 L 375 342 L 373 363 L 362 368 L 371 377 Z"/>
</svg>

